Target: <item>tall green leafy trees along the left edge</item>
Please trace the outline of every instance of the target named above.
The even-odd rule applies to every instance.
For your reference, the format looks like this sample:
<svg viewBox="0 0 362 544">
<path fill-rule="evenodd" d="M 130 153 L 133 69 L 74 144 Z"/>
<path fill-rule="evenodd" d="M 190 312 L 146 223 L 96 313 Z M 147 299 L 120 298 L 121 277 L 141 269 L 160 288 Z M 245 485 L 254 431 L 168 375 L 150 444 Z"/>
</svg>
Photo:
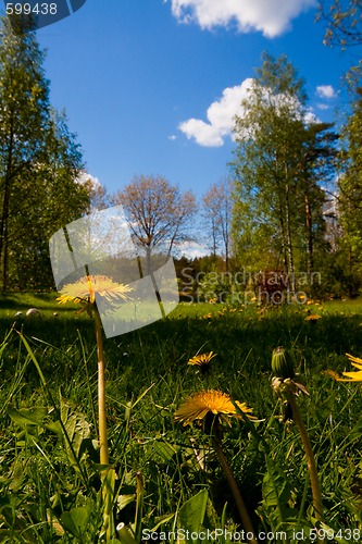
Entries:
<svg viewBox="0 0 362 544">
<path fill-rule="evenodd" d="M 48 240 L 89 207 L 76 183 L 82 153 L 49 102 L 43 52 L 33 32 L 1 20 L 0 263 L 2 290 L 53 285 Z"/>
</svg>

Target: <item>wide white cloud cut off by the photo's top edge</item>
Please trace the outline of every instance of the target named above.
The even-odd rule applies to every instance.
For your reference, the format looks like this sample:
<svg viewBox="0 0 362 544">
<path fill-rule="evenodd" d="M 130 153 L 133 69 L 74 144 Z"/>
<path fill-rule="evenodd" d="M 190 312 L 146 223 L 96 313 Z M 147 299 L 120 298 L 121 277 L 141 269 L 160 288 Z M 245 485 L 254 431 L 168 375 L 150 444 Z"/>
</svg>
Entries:
<svg viewBox="0 0 362 544">
<path fill-rule="evenodd" d="M 172 0 L 172 13 L 183 23 L 196 21 L 201 28 L 236 23 L 239 32 L 255 29 L 274 38 L 316 4 L 316 0 Z"/>
</svg>

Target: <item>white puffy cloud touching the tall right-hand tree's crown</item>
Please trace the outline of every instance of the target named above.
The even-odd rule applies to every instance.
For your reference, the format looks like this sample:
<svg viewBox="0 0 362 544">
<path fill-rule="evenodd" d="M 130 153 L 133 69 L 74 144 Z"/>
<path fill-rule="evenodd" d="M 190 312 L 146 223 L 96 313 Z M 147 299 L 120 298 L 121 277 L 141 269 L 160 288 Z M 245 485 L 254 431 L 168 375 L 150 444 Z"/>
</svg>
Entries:
<svg viewBox="0 0 362 544">
<path fill-rule="evenodd" d="M 179 124 L 178 128 L 189 138 L 195 138 L 203 147 L 220 147 L 225 136 L 232 136 L 235 115 L 242 114 L 241 100 L 246 98 L 252 79 L 245 79 L 241 85 L 227 87 L 220 100 L 209 107 L 209 122 L 200 119 L 189 119 Z"/>
</svg>

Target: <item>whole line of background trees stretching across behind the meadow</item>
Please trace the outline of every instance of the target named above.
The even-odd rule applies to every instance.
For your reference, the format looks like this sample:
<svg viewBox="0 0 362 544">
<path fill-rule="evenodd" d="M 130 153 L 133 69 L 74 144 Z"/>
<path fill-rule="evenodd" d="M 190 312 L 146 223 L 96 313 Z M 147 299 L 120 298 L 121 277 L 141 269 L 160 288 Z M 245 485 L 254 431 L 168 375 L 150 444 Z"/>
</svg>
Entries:
<svg viewBox="0 0 362 544">
<path fill-rule="evenodd" d="M 351 2 L 351 5 L 354 2 Z M 362 8 L 354 7 L 362 14 Z M 321 12 L 323 15 L 323 11 Z M 330 20 L 330 14 L 333 17 Z M 329 17 L 329 20 L 328 20 Z M 338 18 L 339 17 L 339 18 Z M 338 3 L 327 38 L 348 40 Z M 344 27 L 338 26 L 344 22 Z M 350 23 L 355 29 L 353 20 Z M 338 33 L 337 33 L 338 30 Z M 335 33 L 335 34 L 334 34 Z M 345 34 L 344 34 L 345 33 Z M 355 36 L 353 34 L 353 39 Z M 362 41 L 362 40 L 361 40 Z M 311 114 L 304 83 L 286 57 L 264 53 L 235 122 L 225 178 L 197 202 L 160 176 L 138 176 L 115 195 L 87 180 L 66 119 L 49 102 L 43 53 L 32 32 L 0 41 L 0 287 L 53 287 L 48 240 L 88 213 L 121 203 L 138 247 L 176 257 L 180 289 L 194 280 L 233 282 L 242 271 L 280 272 L 297 292 L 358 295 L 362 285 L 362 92 L 354 66 L 342 123 Z M 207 257 L 191 259 L 195 246 Z M 184 254 L 184 257 L 182 257 Z M 184 271 L 184 272 L 183 272 Z M 200 273 L 202 274 L 200 275 Z M 317 274 L 316 274 L 317 273 Z M 199 275 L 198 275 L 199 274 Z M 312 277 L 317 277 L 317 285 Z M 184 282 L 184 283 L 183 283 Z M 187 280 L 188 284 L 195 281 Z M 209 282 L 209 283 L 210 283 Z M 214 285 L 215 287 L 215 285 Z M 219 286 L 224 288 L 223 285 Z"/>
</svg>

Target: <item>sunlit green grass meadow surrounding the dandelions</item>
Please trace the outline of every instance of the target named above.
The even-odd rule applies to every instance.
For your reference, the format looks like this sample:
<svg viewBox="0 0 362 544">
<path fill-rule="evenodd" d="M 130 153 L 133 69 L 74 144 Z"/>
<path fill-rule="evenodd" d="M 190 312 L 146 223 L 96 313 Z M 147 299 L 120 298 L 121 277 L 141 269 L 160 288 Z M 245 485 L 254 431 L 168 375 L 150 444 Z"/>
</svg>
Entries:
<svg viewBox="0 0 362 544">
<path fill-rule="evenodd" d="M 40 313 L 25 317 L 30 307 Z M 0 542 L 99 542 L 95 325 L 76 310 L 59 306 L 55 294 L 0 298 Z M 362 392 L 329 371 L 352 370 L 345 354 L 361 356 L 361 326 L 359 299 L 180 304 L 162 321 L 104 339 L 112 508 L 129 529 L 120 541 L 248 542 L 210 433 L 174 419 L 190 395 L 217 390 L 257 418 L 230 418 L 222 447 L 258 542 L 360 542 Z M 298 428 L 283 420 L 286 405 L 272 388 L 278 346 L 309 393 L 296 400 L 316 460 L 322 519 Z M 211 351 L 207 372 L 188 364 Z"/>
</svg>

